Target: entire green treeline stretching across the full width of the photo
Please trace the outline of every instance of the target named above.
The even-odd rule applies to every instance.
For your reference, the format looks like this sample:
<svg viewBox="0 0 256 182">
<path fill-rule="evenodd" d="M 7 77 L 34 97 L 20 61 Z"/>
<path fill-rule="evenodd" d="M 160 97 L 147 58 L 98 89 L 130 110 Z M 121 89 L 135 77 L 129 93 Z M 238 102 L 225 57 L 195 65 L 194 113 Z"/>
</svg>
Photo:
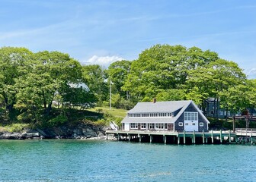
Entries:
<svg viewBox="0 0 256 182">
<path fill-rule="evenodd" d="M 66 121 L 66 108 L 109 105 L 110 83 L 117 108 L 132 108 L 152 98 L 193 99 L 202 110 L 209 97 L 216 105 L 221 100 L 221 107 L 229 111 L 256 105 L 256 80 L 248 80 L 235 62 L 197 47 L 154 45 L 135 61 L 116 61 L 105 70 L 81 65 L 62 52 L 0 49 L 2 120 Z M 55 118 L 54 108 L 59 108 Z"/>
</svg>

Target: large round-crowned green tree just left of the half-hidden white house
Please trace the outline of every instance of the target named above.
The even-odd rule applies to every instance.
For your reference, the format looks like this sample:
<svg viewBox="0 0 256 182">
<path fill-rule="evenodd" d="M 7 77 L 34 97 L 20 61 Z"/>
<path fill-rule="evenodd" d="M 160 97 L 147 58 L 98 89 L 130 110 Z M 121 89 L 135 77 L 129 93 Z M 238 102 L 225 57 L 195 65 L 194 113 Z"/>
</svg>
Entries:
<svg viewBox="0 0 256 182">
<path fill-rule="evenodd" d="M 43 105 L 44 114 L 50 115 L 56 93 L 63 96 L 70 83 L 81 81 L 81 69 L 78 61 L 61 52 L 34 54 L 34 60 L 27 64 L 27 74 L 19 77 L 15 85 L 18 104 L 27 112 L 40 112 Z"/>
</svg>

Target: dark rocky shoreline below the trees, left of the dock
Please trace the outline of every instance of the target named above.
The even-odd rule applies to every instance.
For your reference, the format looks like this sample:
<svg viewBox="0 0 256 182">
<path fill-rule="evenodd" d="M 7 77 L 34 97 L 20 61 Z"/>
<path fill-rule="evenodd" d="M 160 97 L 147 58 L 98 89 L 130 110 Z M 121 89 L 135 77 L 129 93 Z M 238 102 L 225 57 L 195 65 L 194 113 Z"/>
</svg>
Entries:
<svg viewBox="0 0 256 182">
<path fill-rule="evenodd" d="M 23 132 L 2 132 L 0 140 L 43 140 L 43 139 L 80 139 L 80 140 L 116 140 L 114 136 L 106 137 L 106 127 L 96 127 L 92 124 L 77 126 L 63 125 L 61 127 L 30 129 Z"/>
</svg>

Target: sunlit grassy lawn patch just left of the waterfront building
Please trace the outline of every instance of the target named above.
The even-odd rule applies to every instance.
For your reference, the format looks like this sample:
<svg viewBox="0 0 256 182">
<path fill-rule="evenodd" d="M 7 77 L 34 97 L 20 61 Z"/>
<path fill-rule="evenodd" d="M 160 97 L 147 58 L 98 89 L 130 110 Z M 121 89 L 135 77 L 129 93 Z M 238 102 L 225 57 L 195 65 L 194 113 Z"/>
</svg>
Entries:
<svg viewBox="0 0 256 182">
<path fill-rule="evenodd" d="M 88 111 L 95 111 L 95 112 L 101 112 L 101 113 L 109 113 L 110 115 L 113 115 L 117 118 L 124 118 L 126 116 L 125 109 L 120 108 L 108 108 L 108 107 L 95 107 L 95 108 L 89 108 Z"/>
</svg>

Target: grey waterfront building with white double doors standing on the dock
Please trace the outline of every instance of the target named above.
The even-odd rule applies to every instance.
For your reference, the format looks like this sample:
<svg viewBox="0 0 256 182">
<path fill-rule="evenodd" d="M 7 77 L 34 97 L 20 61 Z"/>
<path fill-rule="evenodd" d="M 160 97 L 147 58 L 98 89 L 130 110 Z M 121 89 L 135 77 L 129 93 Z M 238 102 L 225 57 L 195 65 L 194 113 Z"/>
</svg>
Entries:
<svg viewBox="0 0 256 182">
<path fill-rule="evenodd" d="M 210 122 L 191 100 L 139 102 L 122 121 L 122 130 L 207 131 Z"/>
</svg>

